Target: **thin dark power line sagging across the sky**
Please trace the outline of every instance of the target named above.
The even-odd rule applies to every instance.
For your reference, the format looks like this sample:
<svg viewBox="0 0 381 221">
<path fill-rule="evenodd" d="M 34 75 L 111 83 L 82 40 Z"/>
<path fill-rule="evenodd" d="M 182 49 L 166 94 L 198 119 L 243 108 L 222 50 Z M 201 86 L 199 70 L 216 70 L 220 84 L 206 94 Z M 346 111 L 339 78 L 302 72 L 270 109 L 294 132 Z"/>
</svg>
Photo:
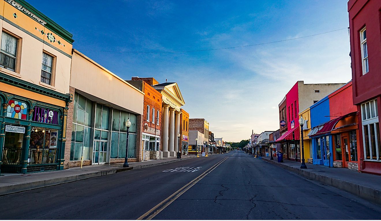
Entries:
<svg viewBox="0 0 381 221">
<path fill-rule="evenodd" d="M 260 44 L 251 44 L 251 45 L 243 45 L 243 46 L 235 46 L 235 47 L 218 48 L 218 49 L 201 49 L 201 50 L 170 51 L 170 52 L 122 52 L 122 51 L 88 50 L 88 49 L 82 49 L 82 50 L 84 50 L 84 51 L 93 51 L 93 52 L 114 52 L 114 53 L 180 53 L 180 52 L 204 52 L 204 51 L 213 51 L 213 50 L 224 50 L 224 49 L 235 49 L 235 48 L 242 48 L 242 47 L 251 47 L 251 46 L 264 45 L 264 44 L 272 44 L 272 43 L 283 42 L 283 41 L 291 41 L 291 40 L 295 40 L 295 39 L 308 38 L 308 37 L 312 37 L 312 36 L 316 36 L 316 35 L 320 35 L 320 34 L 327 34 L 327 33 L 331 33 L 331 32 L 334 32 L 334 31 L 340 31 L 340 30 L 344 30 L 344 29 L 347 29 L 347 28 L 340 28 L 340 29 L 333 30 L 333 31 L 327 31 L 327 32 L 319 33 L 319 34 L 311 34 L 311 35 L 307 35 L 307 36 L 303 36 L 303 37 L 298 37 L 298 38 L 284 39 L 284 40 L 280 40 L 280 41 L 272 41 L 272 42 L 266 42 L 266 43 L 260 43 Z"/>
</svg>

